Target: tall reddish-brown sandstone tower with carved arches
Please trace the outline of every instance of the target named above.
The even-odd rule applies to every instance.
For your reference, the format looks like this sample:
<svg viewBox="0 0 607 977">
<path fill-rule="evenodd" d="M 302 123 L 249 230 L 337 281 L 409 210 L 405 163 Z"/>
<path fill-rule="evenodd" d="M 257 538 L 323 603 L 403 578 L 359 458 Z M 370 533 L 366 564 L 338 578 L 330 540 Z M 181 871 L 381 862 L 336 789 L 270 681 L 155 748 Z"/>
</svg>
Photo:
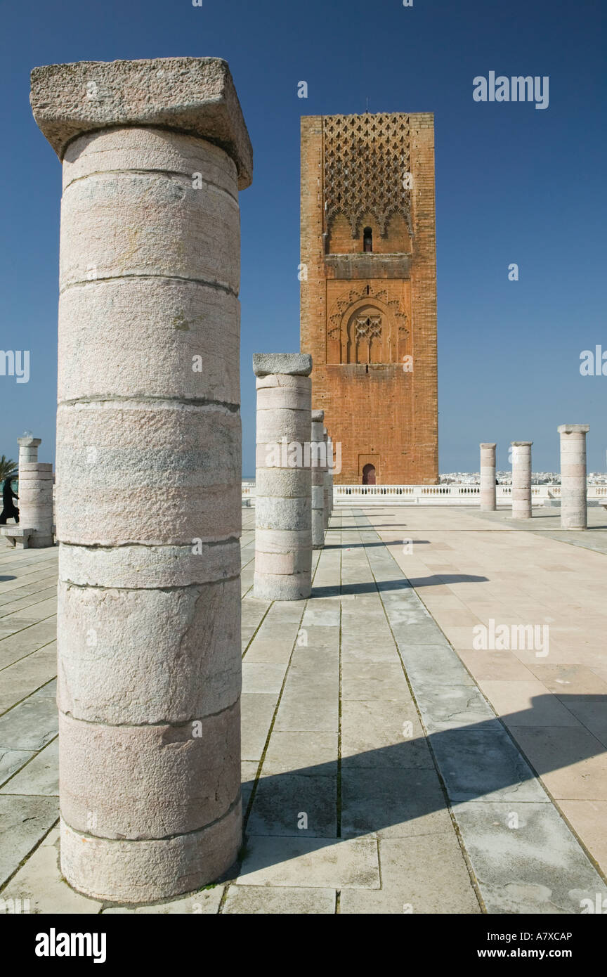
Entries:
<svg viewBox="0 0 607 977">
<path fill-rule="evenodd" d="M 438 481 L 431 112 L 302 118 L 301 347 L 342 484 Z"/>
</svg>

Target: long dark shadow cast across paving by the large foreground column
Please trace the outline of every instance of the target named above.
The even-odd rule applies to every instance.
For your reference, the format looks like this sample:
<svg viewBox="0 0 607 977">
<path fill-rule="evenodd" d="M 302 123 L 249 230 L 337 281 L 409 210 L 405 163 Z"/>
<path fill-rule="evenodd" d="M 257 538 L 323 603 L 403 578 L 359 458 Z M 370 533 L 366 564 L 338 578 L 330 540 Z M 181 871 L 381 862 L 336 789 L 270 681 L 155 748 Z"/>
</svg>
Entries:
<svg viewBox="0 0 607 977">
<path fill-rule="evenodd" d="M 607 706 L 607 696 L 600 695 L 564 695 L 558 700 L 565 706 L 567 701 L 575 700 L 572 704 L 577 710 L 581 703 Z M 381 705 L 380 700 L 374 702 Z M 427 738 L 403 740 L 344 756 L 339 769 L 337 760 L 265 777 L 262 769 L 260 780 L 243 784 L 246 796 L 251 795 L 245 833 L 283 841 L 289 837 L 307 838 L 312 848 L 322 848 L 446 811 L 450 805 L 483 800 L 492 804 L 503 802 L 505 817 L 508 811 L 521 812 L 521 806 L 531 802 L 535 812 L 538 803 L 546 804 L 560 818 L 536 776 L 601 755 L 607 746 L 585 726 L 558 727 L 561 736 L 555 737 L 555 727 L 546 727 L 546 705 L 553 706 L 553 697 L 537 696 L 532 703 L 530 709 L 506 715 L 504 722 L 498 717 L 488 718 L 442 729 Z M 407 715 L 409 710 L 403 703 L 403 717 Z M 505 723 L 533 727 L 538 739 L 546 730 L 545 748 L 534 761 L 535 771 L 511 739 Z M 552 731 L 551 740 L 548 730 Z M 574 736 L 573 732 L 579 730 L 584 735 Z M 299 735 L 306 736 L 305 732 Z M 338 810 L 341 812 L 339 827 Z M 298 828 L 302 813 L 307 818 L 306 829 Z M 493 808 L 491 815 L 495 823 Z M 442 828 L 448 826 L 444 824 Z M 425 833 L 439 829 L 428 826 Z M 293 857 L 295 854 L 294 849 Z M 539 858 L 541 854 L 540 851 Z M 276 859 L 268 855 L 260 862 L 261 857 L 257 852 L 256 871 L 284 861 L 284 846 Z"/>
</svg>

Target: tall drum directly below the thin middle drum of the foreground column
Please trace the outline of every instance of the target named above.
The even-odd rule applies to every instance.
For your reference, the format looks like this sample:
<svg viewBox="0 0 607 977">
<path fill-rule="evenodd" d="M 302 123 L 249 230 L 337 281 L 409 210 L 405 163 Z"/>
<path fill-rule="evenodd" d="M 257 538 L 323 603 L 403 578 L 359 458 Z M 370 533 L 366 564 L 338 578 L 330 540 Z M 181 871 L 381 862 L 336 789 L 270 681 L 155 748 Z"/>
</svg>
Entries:
<svg viewBox="0 0 607 977">
<path fill-rule="evenodd" d="M 184 723 L 240 695 L 239 578 L 173 590 L 60 581 L 63 712 L 87 722 Z"/>
</svg>

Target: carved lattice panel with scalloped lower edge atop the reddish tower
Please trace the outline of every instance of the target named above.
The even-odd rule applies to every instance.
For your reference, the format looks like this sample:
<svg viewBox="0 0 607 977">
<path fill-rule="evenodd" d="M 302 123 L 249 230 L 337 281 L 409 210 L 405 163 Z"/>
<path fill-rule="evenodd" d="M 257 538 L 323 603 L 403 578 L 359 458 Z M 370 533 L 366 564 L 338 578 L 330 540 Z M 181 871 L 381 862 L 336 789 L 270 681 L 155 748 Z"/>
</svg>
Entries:
<svg viewBox="0 0 607 977">
<path fill-rule="evenodd" d="M 392 214 L 411 226 L 411 191 L 405 188 L 409 171 L 409 116 L 325 115 L 324 184 L 325 230 L 336 214 L 344 214 L 357 237 L 364 214 L 373 214 L 385 235 Z"/>
</svg>

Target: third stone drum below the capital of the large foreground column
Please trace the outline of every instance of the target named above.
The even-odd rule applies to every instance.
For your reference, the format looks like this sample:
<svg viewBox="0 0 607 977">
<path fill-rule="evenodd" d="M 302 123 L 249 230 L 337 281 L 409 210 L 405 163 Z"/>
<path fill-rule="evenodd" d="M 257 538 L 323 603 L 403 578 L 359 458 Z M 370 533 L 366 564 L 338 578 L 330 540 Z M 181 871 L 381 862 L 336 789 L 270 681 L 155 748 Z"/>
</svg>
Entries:
<svg viewBox="0 0 607 977">
<path fill-rule="evenodd" d="M 126 396 L 237 405 L 239 315 L 235 296 L 191 281 L 76 285 L 60 297 L 59 402 Z"/>
</svg>

